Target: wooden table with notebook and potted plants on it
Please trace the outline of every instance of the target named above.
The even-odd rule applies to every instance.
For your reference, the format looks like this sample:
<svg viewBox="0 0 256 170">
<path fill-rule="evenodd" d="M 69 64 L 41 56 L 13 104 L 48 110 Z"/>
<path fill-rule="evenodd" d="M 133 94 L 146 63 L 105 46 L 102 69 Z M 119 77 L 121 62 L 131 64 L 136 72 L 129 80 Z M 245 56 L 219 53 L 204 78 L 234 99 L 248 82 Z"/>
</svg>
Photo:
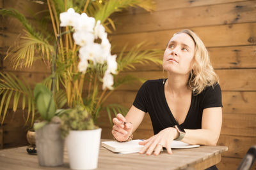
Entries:
<svg viewBox="0 0 256 170">
<path fill-rule="evenodd" d="M 162 152 L 160 155 L 140 155 L 139 153 L 117 154 L 100 146 L 97 169 L 205 169 L 221 160 L 221 153 L 227 146 L 200 146 L 199 148 L 173 149 L 173 154 Z M 0 169 L 68 169 L 67 150 L 64 152 L 64 164 L 61 167 L 41 167 L 36 155 L 29 155 L 26 146 L 0 150 Z M 189 169 L 189 168 L 188 168 Z"/>
</svg>

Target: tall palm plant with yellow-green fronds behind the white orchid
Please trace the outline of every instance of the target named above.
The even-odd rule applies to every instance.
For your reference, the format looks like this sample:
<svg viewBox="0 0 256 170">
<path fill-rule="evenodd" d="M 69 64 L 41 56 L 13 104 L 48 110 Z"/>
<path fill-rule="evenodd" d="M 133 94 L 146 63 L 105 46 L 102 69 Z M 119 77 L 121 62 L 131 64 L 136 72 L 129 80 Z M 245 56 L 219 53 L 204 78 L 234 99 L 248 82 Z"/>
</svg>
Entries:
<svg viewBox="0 0 256 170">
<path fill-rule="evenodd" d="M 80 46 L 74 43 L 72 37 L 72 31 L 68 27 L 60 28 L 60 13 L 65 11 L 65 9 L 76 6 L 74 8 L 79 13 L 86 11 L 88 16 L 95 17 L 95 20 L 100 20 L 100 24 L 104 26 L 106 32 L 111 33 L 115 31 L 114 21 L 111 20 L 110 15 L 117 11 L 122 11 L 129 6 L 140 6 L 147 11 L 152 11 L 154 9 L 154 1 L 130 1 L 130 0 L 108 0 L 108 1 L 47 1 L 48 10 L 42 10 L 38 13 L 44 20 L 40 20 L 37 15 L 31 15 L 35 17 L 35 25 L 32 25 L 26 17 L 19 13 L 19 11 L 14 9 L 2 9 L 0 10 L 1 15 L 11 16 L 17 18 L 22 25 L 24 25 L 24 34 L 20 36 L 17 43 L 13 43 L 6 52 L 4 59 L 8 60 L 14 69 L 19 69 L 20 67 L 31 67 L 35 60 L 41 59 L 44 61 L 47 68 L 50 68 L 53 62 L 50 57 L 52 53 L 55 53 L 55 49 L 58 47 L 58 57 L 56 58 L 56 75 L 55 81 L 52 83 L 52 75 L 45 78 L 42 83 L 46 85 L 49 89 L 52 88 L 54 84 L 56 86 L 56 92 L 54 96 L 58 96 L 56 99 L 56 109 L 60 109 L 58 103 L 63 103 L 65 101 L 67 108 L 75 108 L 77 103 L 82 103 L 90 107 L 90 113 L 94 122 L 97 122 L 99 118 L 99 113 L 102 110 L 108 112 L 109 120 L 111 120 L 111 113 L 116 113 L 116 110 L 125 113 L 125 108 L 119 104 L 104 104 L 112 92 L 120 87 L 124 83 L 130 83 L 132 81 L 140 80 L 131 75 L 124 77 L 118 77 L 117 74 L 125 71 L 125 69 L 136 69 L 134 64 L 148 64 L 149 61 L 156 64 L 161 64 L 161 59 L 159 56 L 162 55 L 163 50 L 141 50 L 143 43 L 135 45 L 129 52 L 125 52 L 125 47 L 122 52 L 118 53 L 116 57 L 117 69 L 116 74 L 113 74 L 115 83 L 113 84 L 113 89 L 100 90 L 100 83 L 102 83 L 102 75 L 106 65 L 94 69 L 92 62 L 88 62 L 88 67 L 86 69 L 87 74 L 78 71 L 79 55 L 78 51 Z M 45 7 L 47 7 L 45 6 Z M 47 11 L 47 12 L 45 12 Z M 47 20 L 47 22 L 45 22 Z M 44 22 L 41 22 L 44 21 Z M 52 23 L 52 28 L 49 29 L 45 23 Z M 96 24 L 96 23 L 95 23 Z M 39 25 L 39 26 L 38 26 Z M 111 29 L 112 28 L 112 29 Z M 101 27 L 102 29 L 102 27 Z M 112 30 L 112 31 L 111 31 Z M 57 38 L 60 37 L 60 32 L 66 32 L 64 36 L 60 38 L 60 43 L 55 45 Z M 109 46 L 108 41 L 104 41 L 106 46 Z M 81 49 L 80 49 L 81 50 Z M 114 57 L 112 57 L 114 58 Z M 83 65 L 84 64 L 84 65 Z M 85 67 L 86 64 L 80 64 L 79 67 Z M 110 73 L 112 74 L 112 73 Z M 108 74 L 107 76 L 109 76 Z M 33 96 L 33 90 L 28 85 L 26 80 L 20 80 L 15 74 L 12 73 L 0 73 L 0 94 L 3 97 L 0 99 L 0 112 L 2 121 L 6 117 L 7 108 L 10 108 L 10 101 L 13 101 L 13 111 L 17 110 L 17 106 L 22 106 L 22 110 L 27 109 L 28 114 L 26 117 L 26 125 L 33 125 L 34 119 L 36 117 L 35 113 L 35 97 Z M 22 76 L 21 76 L 22 77 Z M 143 80 L 142 80 L 143 81 Z M 108 81 L 110 82 L 110 81 Z M 106 84 L 104 85 L 106 86 Z M 84 95 L 86 94 L 86 95 Z M 85 97 L 84 97 L 85 96 Z M 111 122 L 111 121 L 110 121 Z"/>
</svg>

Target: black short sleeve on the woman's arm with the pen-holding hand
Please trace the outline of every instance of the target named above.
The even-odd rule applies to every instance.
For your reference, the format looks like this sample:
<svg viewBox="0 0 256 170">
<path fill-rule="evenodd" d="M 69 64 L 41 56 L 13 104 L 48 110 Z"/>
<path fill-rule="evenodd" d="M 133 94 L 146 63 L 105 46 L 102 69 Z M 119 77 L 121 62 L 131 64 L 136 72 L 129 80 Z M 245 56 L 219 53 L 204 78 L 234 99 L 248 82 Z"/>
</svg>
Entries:
<svg viewBox="0 0 256 170">
<path fill-rule="evenodd" d="M 148 112 L 148 81 L 141 85 L 134 99 L 133 106 L 135 106 L 141 111 L 144 111 L 146 113 Z"/>
</svg>

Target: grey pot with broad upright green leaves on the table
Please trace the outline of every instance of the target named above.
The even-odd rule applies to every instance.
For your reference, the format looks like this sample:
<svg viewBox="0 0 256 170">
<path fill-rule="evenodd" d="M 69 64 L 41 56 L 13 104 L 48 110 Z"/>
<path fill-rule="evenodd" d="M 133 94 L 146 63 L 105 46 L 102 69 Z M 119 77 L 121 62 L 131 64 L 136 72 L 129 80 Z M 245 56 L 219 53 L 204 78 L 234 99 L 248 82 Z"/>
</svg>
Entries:
<svg viewBox="0 0 256 170">
<path fill-rule="evenodd" d="M 52 92 L 41 83 L 34 89 L 35 103 L 42 122 L 35 123 L 36 147 L 40 166 L 63 164 L 63 139 L 60 118 L 56 116 L 56 105 Z"/>
</svg>

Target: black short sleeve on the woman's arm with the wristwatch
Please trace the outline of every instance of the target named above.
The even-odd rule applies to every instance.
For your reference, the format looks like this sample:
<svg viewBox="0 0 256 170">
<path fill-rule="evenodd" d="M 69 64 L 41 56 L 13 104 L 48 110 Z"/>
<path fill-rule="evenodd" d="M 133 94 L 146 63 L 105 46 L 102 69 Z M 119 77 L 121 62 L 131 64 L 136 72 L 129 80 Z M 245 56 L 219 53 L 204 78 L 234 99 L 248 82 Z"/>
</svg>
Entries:
<svg viewBox="0 0 256 170">
<path fill-rule="evenodd" d="M 203 109 L 222 107 L 220 85 L 216 83 L 213 87 L 206 87 L 203 99 Z"/>
</svg>

